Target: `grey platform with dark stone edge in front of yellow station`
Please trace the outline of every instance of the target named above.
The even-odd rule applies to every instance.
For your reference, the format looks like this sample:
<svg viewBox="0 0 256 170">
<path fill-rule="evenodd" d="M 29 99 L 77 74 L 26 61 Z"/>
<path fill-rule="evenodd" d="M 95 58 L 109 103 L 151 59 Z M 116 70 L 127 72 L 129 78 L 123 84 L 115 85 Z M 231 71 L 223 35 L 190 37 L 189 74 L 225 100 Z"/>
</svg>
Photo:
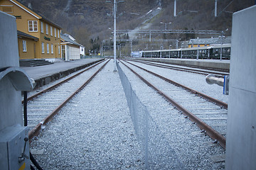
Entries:
<svg viewBox="0 0 256 170">
<path fill-rule="evenodd" d="M 49 84 L 52 81 L 63 78 L 68 74 L 100 62 L 102 58 L 82 59 L 68 62 L 54 62 L 54 64 L 38 67 L 21 67 L 29 77 L 36 81 L 35 89 Z"/>
</svg>

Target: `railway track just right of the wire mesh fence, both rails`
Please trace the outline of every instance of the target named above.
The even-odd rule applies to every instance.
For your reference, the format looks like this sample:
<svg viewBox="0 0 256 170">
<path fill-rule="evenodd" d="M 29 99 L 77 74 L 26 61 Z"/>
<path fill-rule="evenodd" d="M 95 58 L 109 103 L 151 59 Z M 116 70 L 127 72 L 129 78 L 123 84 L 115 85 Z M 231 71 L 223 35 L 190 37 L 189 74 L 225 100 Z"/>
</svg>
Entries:
<svg viewBox="0 0 256 170">
<path fill-rule="evenodd" d="M 157 93 L 164 96 L 167 101 L 185 115 L 185 118 L 189 118 L 198 125 L 201 128 L 201 132 L 206 133 L 215 140 L 214 142 L 219 142 L 220 146 L 225 148 L 225 131 L 228 117 L 227 103 L 201 94 L 130 62 L 127 62 L 127 64 L 124 64 L 124 66 L 128 67 L 131 72 L 156 90 Z"/>
</svg>

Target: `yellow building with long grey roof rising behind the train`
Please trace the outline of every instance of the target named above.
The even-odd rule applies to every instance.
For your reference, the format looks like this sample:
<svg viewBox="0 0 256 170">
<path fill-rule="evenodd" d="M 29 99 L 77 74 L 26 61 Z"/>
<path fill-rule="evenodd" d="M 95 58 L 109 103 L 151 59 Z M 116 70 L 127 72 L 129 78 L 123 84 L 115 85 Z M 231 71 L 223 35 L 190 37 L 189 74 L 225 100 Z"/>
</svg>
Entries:
<svg viewBox="0 0 256 170">
<path fill-rule="evenodd" d="M 222 39 L 223 44 L 230 44 L 231 37 L 226 37 Z M 210 46 L 210 45 L 220 45 L 221 39 L 220 38 L 196 38 L 191 39 L 188 42 L 188 47 L 203 47 L 203 46 Z"/>
</svg>

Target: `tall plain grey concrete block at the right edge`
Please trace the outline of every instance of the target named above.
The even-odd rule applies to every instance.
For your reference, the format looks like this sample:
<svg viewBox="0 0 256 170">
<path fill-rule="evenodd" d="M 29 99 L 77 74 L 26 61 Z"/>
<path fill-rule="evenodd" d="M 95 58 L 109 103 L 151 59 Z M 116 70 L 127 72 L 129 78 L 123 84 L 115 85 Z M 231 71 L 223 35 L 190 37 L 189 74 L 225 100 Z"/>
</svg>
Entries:
<svg viewBox="0 0 256 170">
<path fill-rule="evenodd" d="M 226 169 L 256 169 L 256 6 L 234 13 Z"/>
</svg>

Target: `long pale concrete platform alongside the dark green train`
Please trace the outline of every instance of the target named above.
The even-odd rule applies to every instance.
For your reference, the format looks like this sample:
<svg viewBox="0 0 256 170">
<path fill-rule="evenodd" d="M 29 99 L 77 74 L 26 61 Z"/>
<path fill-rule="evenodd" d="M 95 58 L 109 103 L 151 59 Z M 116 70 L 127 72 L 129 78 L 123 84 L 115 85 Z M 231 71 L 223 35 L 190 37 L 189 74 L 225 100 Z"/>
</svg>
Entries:
<svg viewBox="0 0 256 170">
<path fill-rule="evenodd" d="M 169 59 L 169 58 L 131 58 L 137 60 L 147 60 L 152 62 L 164 62 L 167 64 L 186 64 L 192 66 L 213 68 L 213 69 L 230 69 L 230 60 L 196 60 L 196 59 Z"/>
</svg>

